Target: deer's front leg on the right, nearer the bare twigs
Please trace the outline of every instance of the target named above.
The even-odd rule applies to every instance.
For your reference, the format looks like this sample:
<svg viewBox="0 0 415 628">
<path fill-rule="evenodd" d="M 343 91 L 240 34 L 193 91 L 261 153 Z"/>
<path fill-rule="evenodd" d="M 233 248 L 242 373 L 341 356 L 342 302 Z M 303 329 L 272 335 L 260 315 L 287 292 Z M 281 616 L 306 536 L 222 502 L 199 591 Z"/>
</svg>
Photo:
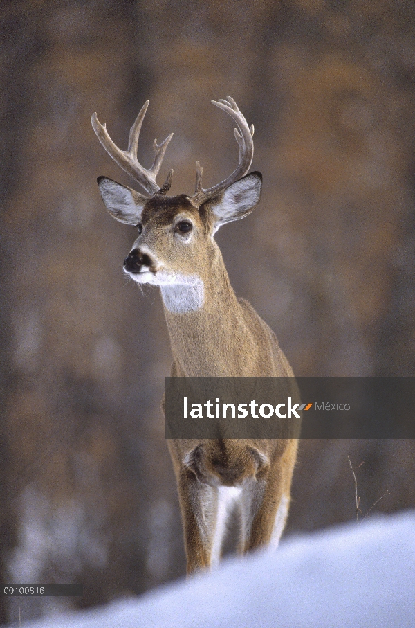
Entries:
<svg viewBox="0 0 415 628">
<path fill-rule="evenodd" d="M 250 478 L 242 492 L 242 553 L 261 546 L 276 547 L 284 530 L 289 493 L 283 492 L 283 469 L 268 469 L 261 478 Z"/>
</svg>

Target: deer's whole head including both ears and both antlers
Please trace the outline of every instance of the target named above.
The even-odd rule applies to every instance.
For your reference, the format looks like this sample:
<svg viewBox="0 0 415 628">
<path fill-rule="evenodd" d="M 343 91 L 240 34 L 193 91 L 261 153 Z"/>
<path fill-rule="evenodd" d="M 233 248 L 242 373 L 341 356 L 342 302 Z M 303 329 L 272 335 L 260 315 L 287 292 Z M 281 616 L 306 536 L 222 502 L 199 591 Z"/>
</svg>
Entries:
<svg viewBox="0 0 415 628">
<path fill-rule="evenodd" d="M 161 188 L 156 183 L 173 134 L 160 145 L 154 140 L 155 157 L 149 170 L 138 163 L 138 138 L 148 100 L 131 127 L 126 151 L 113 143 L 105 125 L 98 122 L 97 115 L 92 116 L 93 129 L 105 150 L 147 192 L 147 195 L 142 195 L 108 177 L 98 177 L 102 199 L 109 213 L 120 222 L 138 228 L 138 237 L 124 260 L 124 271 L 140 284 L 183 285 L 200 293 L 203 269 L 208 269 L 219 253 L 212 236 L 221 225 L 248 215 L 259 202 L 262 176 L 259 172 L 246 174 L 254 153 L 254 127 L 248 127 L 230 96 L 228 101 L 212 100 L 212 103 L 237 123 L 239 130 L 234 129 L 234 135 L 239 145 L 239 163 L 227 179 L 205 190 L 202 187 L 203 168 L 196 161 L 196 188 L 192 197 L 185 194 L 175 197 L 166 195 L 172 184 L 173 170 L 169 171 Z M 201 294 L 200 298 L 203 299 Z"/>
</svg>

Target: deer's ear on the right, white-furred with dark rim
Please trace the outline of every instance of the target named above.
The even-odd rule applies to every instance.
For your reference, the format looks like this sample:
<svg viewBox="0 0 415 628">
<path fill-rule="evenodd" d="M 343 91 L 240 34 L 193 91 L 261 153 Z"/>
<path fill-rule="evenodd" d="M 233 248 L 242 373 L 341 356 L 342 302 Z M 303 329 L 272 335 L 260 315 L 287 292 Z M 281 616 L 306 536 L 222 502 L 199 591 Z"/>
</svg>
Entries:
<svg viewBox="0 0 415 628">
<path fill-rule="evenodd" d="M 219 198 L 212 200 L 210 208 L 215 218 L 215 231 L 226 222 L 248 216 L 259 203 L 261 188 L 261 172 L 251 172 L 232 183 Z"/>
</svg>

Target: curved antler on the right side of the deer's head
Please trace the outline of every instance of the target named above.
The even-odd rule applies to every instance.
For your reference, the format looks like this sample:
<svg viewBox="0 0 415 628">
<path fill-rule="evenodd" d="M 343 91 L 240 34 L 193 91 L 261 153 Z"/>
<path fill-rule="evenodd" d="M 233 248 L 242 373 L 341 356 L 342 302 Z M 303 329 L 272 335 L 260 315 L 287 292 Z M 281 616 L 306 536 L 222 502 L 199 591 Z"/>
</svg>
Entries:
<svg viewBox="0 0 415 628">
<path fill-rule="evenodd" d="M 229 114 L 238 125 L 239 131 L 238 129 L 234 129 L 234 135 L 239 145 L 239 164 L 236 170 L 234 170 L 227 179 L 221 183 L 217 183 L 213 188 L 205 190 L 202 188 L 203 168 L 201 168 L 199 161 L 196 161 L 196 189 L 194 190 L 192 203 L 198 207 L 203 205 L 209 198 L 217 196 L 220 192 L 228 188 L 231 183 L 241 179 L 250 169 L 252 157 L 254 156 L 254 141 L 252 139 L 254 135 L 254 125 L 248 127 L 248 123 L 243 114 L 241 114 L 241 111 L 239 111 L 234 99 L 230 98 L 230 96 L 226 96 L 226 98 L 228 98 L 228 100 L 221 98 L 218 102 L 216 102 L 216 100 L 212 100 L 211 102 L 213 105 L 216 105 L 216 107 L 223 109 L 223 111 Z"/>
</svg>

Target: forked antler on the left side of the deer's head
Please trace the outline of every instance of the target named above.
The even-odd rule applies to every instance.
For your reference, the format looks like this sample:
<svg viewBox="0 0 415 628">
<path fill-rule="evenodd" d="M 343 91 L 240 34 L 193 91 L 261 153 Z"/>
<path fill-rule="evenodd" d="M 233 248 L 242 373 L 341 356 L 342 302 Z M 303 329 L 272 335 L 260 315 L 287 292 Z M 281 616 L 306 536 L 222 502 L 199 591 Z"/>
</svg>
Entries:
<svg viewBox="0 0 415 628">
<path fill-rule="evenodd" d="M 107 128 L 105 127 L 105 123 L 102 125 L 97 118 L 97 114 L 93 114 L 91 118 L 91 123 L 93 126 L 93 130 L 98 136 L 98 139 L 102 143 L 104 149 L 109 153 L 109 155 L 113 158 L 113 160 L 118 163 L 118 165 L 128 172 L 128 174 L 133 177 L 140 186 L 142 186 L 146 192 L 149 193 L 150 196 L 154 196 L 160 190 L 163 190 L 163 194 L 167 192 L 171 183 L 172 183 L 172 175 L 173 170 L 170 170 L 167 175 L 167 181 L 162 188 L 157 185 L 156 177 L 158 171 L 160 170 L 161 163 L 163 161 L 163 157 L 165 156 L 165 152 L 167 149 L 167 145 L 169 141 L 172 139 L 173 134 L 170 133 L 165 141 L 161 144 L 157 143 L 157 140 L 154 140 L 153 148 L 155 152 L 154 163 L 147 170 L 143 168 L 142 165 L 138 162 L 137 159 L 137 149 L 138 149 L 138 138 L 140 137 L 140 130 L 142 125 L 142 120 L 144 120 L 145 112 L 147 111 L 147 107 L 149 106 L 149 101 L 146 100 L 144 105 L 142 105 L 141 111 L 137 116 L 136 122 L 130 129 L 128 148 L 127 150 L 121 150 L 116 146 L 111 140 L 109 134 L 107 133 Z M 170 185 L 169 185 L 170 184 Z"/>
</svg>

